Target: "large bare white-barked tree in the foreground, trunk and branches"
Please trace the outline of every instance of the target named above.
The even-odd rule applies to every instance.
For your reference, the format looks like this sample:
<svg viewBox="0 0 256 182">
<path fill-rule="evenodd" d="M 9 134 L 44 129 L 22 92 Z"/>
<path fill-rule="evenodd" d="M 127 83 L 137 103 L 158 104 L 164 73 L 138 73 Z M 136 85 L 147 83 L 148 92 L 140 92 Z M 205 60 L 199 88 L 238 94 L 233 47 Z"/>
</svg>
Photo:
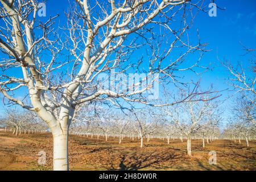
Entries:
<svg viewBox="0 0 256 182">
<path fill-rule="evenodd" d="M 92 100 L 118 104 L 114 98 L 149 104 L 142 93 L 152 88 L 156 78 L 143 89 L 137 89 L 141 81 L 134 81 L 129 85 L 131 92 L 117 92 L 98 84 L 100 73 L 109 77 L 113 69 L 117 73 L 137 72 L 147 64 L 144 71 L 150 76 L 159 73 L 159 79 L 179 83 L 182 80 L 178 81 L 177 72 L 185 75 L 185 71 L 200 67 L 199 61 L 183 67 L 189 53 L 204 51 L 205 44 L 191 44 L 186 34 L 195 18 L 192 7 L 199 7 L 199 2 L 111 0 L 101 5 L 76 0 L 64 28 L 54 24 L 58 16 L 42 22 L 36 0 L 0 2 L 0 92 L 10 102 L 35 111 L 47 123 L 53 135 L 55 170 L 69 168 L 68 130 L 80 104 Z M 159 49 L 160 44 L 166 48 Z M 135 60 L 132 55 L 142 48 L 149 48 L 149 55 Z M 169 61 L 175 48 L 180 48 L 181 54 Z M 21 71 L 22 76 L 11 74 L 11 69 Z M 18 98 L 18 92 L 28 96 L 27 103 Z"/>
</svg>

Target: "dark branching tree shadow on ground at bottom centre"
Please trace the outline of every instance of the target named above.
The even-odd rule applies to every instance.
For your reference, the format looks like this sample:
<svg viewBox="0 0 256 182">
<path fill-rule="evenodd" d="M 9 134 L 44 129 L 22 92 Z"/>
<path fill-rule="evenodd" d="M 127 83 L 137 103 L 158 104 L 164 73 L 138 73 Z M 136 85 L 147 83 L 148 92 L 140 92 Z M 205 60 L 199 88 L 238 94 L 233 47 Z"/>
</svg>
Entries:
<svg viewBox="0 0 256 182">
<path fill-rule="evenodd" d="M 154 169 L 163 168 L 163 163 L 170 160 L 179 159 L 181 156 L 175 154 L 175 152 L 150 152 L 150 153 L 135 153 L 132 154 L 123 153 L 118 167 L 111 164 L 108 170 L 122 170 L 122 171 L 137 171 L 151 167 Z M 170 161 L 171 162 L 171 161 Z M 170 167 L 168 165 L 168 167 Z"/>
</svg>

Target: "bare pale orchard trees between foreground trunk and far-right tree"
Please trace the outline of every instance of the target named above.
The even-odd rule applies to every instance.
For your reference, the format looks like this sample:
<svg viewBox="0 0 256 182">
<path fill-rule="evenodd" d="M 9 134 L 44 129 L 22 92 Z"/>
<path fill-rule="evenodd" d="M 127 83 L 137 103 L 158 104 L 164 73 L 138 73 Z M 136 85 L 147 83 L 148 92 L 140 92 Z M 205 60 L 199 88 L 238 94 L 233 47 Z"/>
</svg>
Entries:
<svg viewBox="0 0 256 182">
<path fill-rule="evenodd" d="M 213 100 L 183 102 L 175 106 L 160 107 L 160 109 L 144 107 L 143 109 L 115 110 L 100 106 L 81 107 L 86 114 L 76 116 L 71 126 L 71 133 L 88 137 L 94 135 L 117 137 L 119 144 L 123 138 L 129 137 L 132 141 L 139 141 L 143 147 L 144 139 L 151 138 L 183 139 L 187 141 L 187 155 L 191 156 L 191 139 L 201 139 L 202 147 L 209 140 L 220 136 L 220 111 L 218 104 Z M 97 112 L 96 112 L 97 111 Z M 85 112 L 80 112 L 85 113 Z"/>
</svg>

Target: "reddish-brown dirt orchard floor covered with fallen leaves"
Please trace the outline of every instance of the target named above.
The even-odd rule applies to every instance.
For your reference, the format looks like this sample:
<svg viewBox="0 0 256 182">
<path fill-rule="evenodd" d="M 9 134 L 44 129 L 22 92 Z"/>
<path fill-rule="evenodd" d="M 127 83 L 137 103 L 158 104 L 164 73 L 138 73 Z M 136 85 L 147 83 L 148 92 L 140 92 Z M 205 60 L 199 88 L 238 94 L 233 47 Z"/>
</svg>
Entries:
<svg viewBox="0 0 256 182">
<path fill-rule="evenodd" d="M 69 138 L 69 166 L 71 170 L 256 170 L 256 141 L 250 147 L 229 140 L 215 140 L 201 146 L 192 140 L 192 157 L 186 156 L 186 142 L 151 139 L 139 147 L 139 141 L 71 135 Z M 39 151 L 46 152 L 46 164 L 39 165 Z M 217 164 L 209 164 L 209 151 L 217 152 Z M 0 131 L 0 170 L 51 170 L 52 136 Z"/>
</svg>

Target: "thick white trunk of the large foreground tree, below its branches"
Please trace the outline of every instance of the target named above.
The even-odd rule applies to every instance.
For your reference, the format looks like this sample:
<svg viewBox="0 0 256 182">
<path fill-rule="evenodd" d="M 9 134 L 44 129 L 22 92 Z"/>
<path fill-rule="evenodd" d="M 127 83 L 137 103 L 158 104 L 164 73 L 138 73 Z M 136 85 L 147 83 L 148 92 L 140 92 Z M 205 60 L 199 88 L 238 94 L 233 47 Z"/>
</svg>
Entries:
<svg viewBox="0 0 256 182">
<path fill-rule="evenodd" d="M 53 134 L 53 170 L 68 171 L 68 130 Z"/>
</svg>

